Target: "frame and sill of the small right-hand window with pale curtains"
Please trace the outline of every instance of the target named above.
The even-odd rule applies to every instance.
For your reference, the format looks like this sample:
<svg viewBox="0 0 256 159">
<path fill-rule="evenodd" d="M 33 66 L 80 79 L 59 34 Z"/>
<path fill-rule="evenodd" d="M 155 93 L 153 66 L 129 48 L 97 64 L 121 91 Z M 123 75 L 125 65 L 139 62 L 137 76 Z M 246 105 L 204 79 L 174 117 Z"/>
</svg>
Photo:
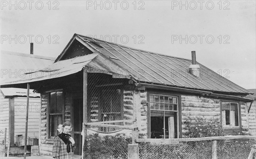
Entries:
<svg viewBox="0 0 256 159">
<path fill-rule="evenodd" d="M 236 103 L 238 104 L 238 123 L 239 126 L 222 126 L 222 102 L 229 102 L 229 103 Z M 220 100 L 220 121 L 221 121 L 221 126 L 225 130 L 225 133 L 233 132 L 233 130 L 238 130 L 240 131 L 242 129 L 242 120 L 241 120 L 241 101 L 236 101 L 236 100 L 227 100 L 227 99 L 221 99 Z"/>
</svg>

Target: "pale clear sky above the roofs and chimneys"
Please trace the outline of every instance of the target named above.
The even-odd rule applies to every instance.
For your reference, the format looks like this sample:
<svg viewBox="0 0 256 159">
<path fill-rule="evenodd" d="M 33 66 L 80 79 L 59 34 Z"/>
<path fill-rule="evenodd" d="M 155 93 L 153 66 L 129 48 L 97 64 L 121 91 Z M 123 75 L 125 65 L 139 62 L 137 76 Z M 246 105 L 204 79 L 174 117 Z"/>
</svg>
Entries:
<svg viewBox="0 0 256 159">
<path fill-rule="evenodd" d="M 256 89 L 255 0 L 1 0 L 1 50 L 57 57 L 77 33 L 197 61 Z M 3 60 L 3 59 L 2 59 Z"/>
</svg>

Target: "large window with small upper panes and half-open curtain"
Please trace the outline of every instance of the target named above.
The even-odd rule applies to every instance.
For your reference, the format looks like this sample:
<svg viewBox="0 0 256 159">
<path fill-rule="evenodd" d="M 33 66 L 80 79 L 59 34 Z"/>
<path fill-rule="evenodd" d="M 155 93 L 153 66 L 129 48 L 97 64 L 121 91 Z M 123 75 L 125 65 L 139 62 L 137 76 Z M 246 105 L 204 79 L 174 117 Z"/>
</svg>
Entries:
<svg viewBox="0 0 256 159">
<path fill-rule="evenodd" d="M 150 94 L 151 139 L 177 138 L 178 97 Z"/>
</svg>

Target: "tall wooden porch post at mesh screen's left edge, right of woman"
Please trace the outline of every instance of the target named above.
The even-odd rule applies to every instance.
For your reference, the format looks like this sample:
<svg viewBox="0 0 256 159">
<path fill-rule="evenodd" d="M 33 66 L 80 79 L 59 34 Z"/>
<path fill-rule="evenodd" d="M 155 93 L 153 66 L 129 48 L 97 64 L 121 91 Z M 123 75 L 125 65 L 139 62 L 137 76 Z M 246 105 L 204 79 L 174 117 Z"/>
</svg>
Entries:
<svg viewBox="0 0 256 159">
<path fill-rule="evenodd" d="M 83 79 L 83 111 L 84 111 L 84 124 L 87 123 L 87 70 L 84 68 L 84 79 Z M 87 125 L 84 126 L 84 147 L 83 147 L 83 158 L 85 159 L 86 156 L 84 153 L 87 150 Z"/>
</svg>

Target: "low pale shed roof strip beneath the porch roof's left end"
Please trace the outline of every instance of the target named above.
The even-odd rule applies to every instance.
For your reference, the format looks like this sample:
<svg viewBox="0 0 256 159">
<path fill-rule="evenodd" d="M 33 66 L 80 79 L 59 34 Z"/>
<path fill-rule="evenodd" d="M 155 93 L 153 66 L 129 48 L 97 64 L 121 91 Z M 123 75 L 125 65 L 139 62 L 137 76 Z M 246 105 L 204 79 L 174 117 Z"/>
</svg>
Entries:
<svg viewBox="0 0 256 159">
<path fill-rule="evenodd" d="M 9 97 L 9 96 L 26 97 L 26 93 L 27 93 L 27 90 L 22 88 L 1 88 L 1 91 L 5 97 Z M 29 90 L 29 97 L 40 97 L 40 94 L 33 93 L 33 90 Z"/>
</svg>

